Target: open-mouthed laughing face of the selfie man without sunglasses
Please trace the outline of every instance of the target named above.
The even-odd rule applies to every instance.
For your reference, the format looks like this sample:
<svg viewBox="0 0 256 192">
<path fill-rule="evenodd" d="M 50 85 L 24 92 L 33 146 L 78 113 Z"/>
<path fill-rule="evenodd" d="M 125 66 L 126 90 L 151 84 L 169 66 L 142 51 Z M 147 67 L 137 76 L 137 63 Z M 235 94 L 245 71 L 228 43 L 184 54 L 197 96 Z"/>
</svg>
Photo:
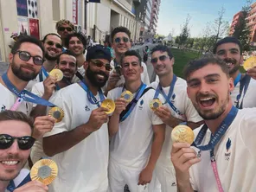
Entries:
<svg viewBox="0 0 256 192">
<path fill-rule="evenodd" d="M 187 81 L 189 99 L 202 118 L 215 119 L 226 111 L 234 83 L 220 66 L 208 64 L 191 73 Z"/>
</svg>

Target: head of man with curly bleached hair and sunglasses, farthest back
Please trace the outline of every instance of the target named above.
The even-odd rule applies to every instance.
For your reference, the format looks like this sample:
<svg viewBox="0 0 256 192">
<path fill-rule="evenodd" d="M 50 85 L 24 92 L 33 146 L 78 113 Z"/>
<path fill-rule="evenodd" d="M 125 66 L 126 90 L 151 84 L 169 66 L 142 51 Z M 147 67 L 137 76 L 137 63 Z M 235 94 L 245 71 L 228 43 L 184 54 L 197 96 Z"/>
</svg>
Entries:
<svg viewBox="0 0 256 192">
<path fill-rule="evenodd" d="M 57 33 L 61 35 L 62 46 L 65 47 L 67 35 L 74 33 L 74 24 L 66 19 L 61 19 L 56 23 L 56 30 Z"/>
</svg>

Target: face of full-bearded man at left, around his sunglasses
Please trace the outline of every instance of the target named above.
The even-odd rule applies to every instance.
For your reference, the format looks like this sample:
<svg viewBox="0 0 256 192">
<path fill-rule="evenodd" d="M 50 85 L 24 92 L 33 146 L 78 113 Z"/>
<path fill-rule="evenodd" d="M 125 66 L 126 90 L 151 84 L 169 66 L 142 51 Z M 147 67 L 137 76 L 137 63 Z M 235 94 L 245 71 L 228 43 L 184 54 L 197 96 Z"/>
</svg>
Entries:
<svg viewBox="0 0 256 192">
<path fill-rule="evenodd" d="M 42 49 L 31 42 L 23 42 L 18 51 L 26 51 L 31 56 L 39 56 L 43 58 Z M 23 61 L 19 53 L 10 54 L 10 68 L 12 73 L 21 80 L 34 80 L 41 69 L 42 65 L 35 65 L 33 58 L 29 61 Z"/>
</svg>

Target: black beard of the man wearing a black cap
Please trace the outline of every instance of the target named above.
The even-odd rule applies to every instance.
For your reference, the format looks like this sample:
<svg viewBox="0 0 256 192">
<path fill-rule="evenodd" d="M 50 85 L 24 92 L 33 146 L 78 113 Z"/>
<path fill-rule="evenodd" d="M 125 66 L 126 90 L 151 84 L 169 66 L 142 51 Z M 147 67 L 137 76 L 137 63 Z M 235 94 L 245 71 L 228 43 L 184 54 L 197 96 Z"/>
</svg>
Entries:
<svg viewBox="0 0 256 192">
<path fill-rule="evenodd" d="M 103 75 L 104 80 L 101 80 L 101 81 L 97 80 L 97 77 L 96 77 L 97 74 Z M 105 74 L 104 72 L 93 72 L 90 66 L 88 66 L 86 69 L 86 77 L 88 78 L 88 80 L 90 80 L 93 86 L 97 86 L 99 88 L 101 88 L 102 86 L 105 86 L 106 81 L 108 80 L 107 74 Z"/>
</svg>

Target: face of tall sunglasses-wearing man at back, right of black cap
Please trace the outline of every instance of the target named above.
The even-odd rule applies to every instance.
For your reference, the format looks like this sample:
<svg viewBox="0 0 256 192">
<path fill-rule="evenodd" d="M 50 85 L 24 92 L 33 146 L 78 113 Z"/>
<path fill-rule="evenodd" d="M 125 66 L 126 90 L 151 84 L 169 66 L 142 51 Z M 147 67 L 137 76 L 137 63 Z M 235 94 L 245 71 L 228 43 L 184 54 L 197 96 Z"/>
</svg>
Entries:
<svg viewBox="0 0 256 192">
<path fill-rule="evenodd" d="M 129 36 L 124 32 L 118 32 L 113 37 L 112 48 L 116 54 L 125 54 L 125 52 L 131 48 Z"/>
</svg>

